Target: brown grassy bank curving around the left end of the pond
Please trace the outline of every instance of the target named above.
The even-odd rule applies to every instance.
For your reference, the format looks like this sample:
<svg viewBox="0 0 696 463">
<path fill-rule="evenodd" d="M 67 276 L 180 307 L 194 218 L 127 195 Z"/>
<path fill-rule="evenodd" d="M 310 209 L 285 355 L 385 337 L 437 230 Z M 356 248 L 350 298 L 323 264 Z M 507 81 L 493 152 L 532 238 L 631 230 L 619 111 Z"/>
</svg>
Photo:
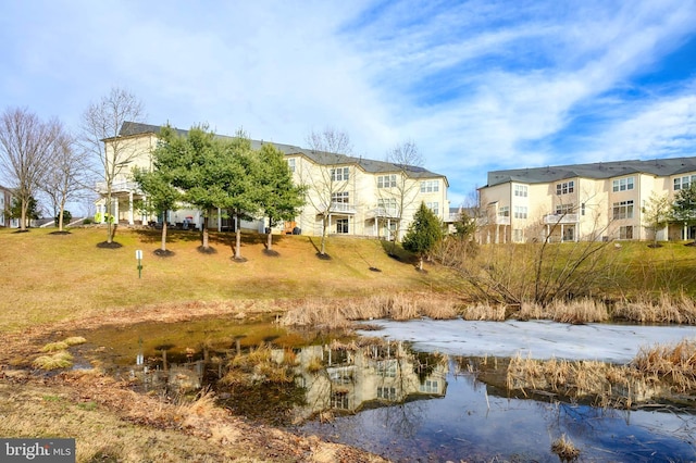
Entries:
<svg viewBox="0 0 696 463">
<path fill-rule="evenodd" d="M 376 462 L 358 449 L 251 425 L 203 395 L 182 403 L 140 395 L 97 370 L 46 374 L 28 364 L 49 340 L 104 324 L 174 323 L 282 312 L 286 301 L 188 302 L 90 313 L 5 335 L 0 350 L 0 436 L 74 437 L 77 461 Z"/>
</svg>

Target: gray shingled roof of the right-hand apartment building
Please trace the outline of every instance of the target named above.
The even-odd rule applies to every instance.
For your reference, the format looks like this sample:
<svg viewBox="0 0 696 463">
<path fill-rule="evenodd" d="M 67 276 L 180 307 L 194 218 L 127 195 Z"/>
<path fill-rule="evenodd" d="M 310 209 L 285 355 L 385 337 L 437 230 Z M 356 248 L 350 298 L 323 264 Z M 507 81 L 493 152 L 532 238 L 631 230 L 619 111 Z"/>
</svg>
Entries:
<svg viewBox="0 0 696 463">
<path fill-rule="evenodd" d="M 605 179 L 632 174 L 650 174 L 659 177 L 696 171 L 696 158 L 670 158 L 651 161 L 613 161 L 592 164 L 556 165 L 535 168 L 513 168 L 488 172 L 488 187 L 508 182 L 546 184 L 567 178 Z"/>
</svg>

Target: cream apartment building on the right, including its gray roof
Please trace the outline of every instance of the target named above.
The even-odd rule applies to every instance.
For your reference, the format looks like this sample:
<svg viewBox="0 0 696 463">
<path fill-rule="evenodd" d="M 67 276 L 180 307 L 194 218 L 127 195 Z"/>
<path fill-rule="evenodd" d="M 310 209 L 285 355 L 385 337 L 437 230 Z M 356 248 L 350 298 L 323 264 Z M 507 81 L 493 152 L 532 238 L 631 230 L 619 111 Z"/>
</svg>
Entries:
<svg viewBox="0 0 696 463">
<path fill-rule="evenodd" d="M 478 189 L 482 242 L 652 239 L 642 209 L 696 180 L 696 158 L 616 161 L 488 173 Z M 693 239 L 671 223 L 659 240 Z"/>
</svg>

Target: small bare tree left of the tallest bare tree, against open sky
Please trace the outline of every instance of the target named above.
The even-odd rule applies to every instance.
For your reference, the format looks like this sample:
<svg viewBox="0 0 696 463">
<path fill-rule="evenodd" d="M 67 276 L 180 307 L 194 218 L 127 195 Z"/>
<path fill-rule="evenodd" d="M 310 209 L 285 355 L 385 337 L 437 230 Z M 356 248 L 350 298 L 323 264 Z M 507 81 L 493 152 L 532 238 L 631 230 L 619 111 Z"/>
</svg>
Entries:
<svg viewBox="0 0 696 463">
<path fill-rule="evenodd" d="M 72 200 L 83 199 L 87 193 L 90 179 L 89 170 L 83 152 L 76 149 L 72 135 L 61 130 L 57 139 L 54 155 L 49 160 L 41 189 L 53 204 L 58 217 L 58 229 L 63 232 L 63 212 Z"/>
</svg>

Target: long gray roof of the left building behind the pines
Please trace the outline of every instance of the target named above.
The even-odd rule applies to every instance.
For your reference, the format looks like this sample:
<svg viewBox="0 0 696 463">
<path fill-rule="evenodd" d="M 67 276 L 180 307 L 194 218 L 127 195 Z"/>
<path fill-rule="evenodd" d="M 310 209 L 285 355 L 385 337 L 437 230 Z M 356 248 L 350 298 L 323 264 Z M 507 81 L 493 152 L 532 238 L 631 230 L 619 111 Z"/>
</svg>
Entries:
<svg viewBox="0 0 696 463">
<path fill-rule="evenodd" d="M 140 124 L 136 122 L 124 122 L 123 126 L 119 134 L 121 136 L 133 136 L 140 134 L 159 134 L 162 129 L 162 126 L 159 125 L 150 125 L 150 124 Z M 186 136 L 188 130 L 183 130 L 181 128 L 174 128 L 179 136 Z M 220 138 L 233 138 L 226 135 L 216 135 Z M 314 151 L 309 148 L 300 148 L 293 145 L 283 145 L 271 141 L 263 140 L 251 140 L 251 146 L 254 149 L 260 148 L 263 143 L 272 143 L 275 148 L 282 151 L 286 155 L 298 154 L 304 155 L 321 165 L 359 165 L 363 171 L 380 174 L 380 173 L 397 173 L 405 171 L 407 175 L 411 178 L 435 178 L 435 177 L 445 177 L 444 175 L 436 174 L 434 172 L 427 171 L 426 168 L 414 166 L 414 165 L 405 165 L 403 168 L 401 165 L 394 164 L 386 161 L 375 161 L 365 158 L 356 158 L 340 153 L 332 153 L 326 151 Z M 445 177 L 445 180 L 447 178 Z"/>
</svg>

